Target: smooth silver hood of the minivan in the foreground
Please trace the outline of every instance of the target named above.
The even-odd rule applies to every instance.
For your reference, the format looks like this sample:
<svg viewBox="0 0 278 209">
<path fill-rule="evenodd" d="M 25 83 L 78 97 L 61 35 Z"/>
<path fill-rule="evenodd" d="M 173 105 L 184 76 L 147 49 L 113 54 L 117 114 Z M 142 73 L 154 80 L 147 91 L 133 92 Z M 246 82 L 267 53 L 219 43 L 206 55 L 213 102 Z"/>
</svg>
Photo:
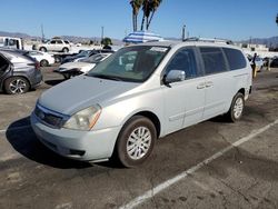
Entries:
<svg viewBox="0 0 278 209">
<path fill-rule="evenodd" d="M 90 106 L 101 106 L 138 86 L 133 82 L 79 76 L 47 90 L 38 102 L 50 110 L 71 116 Z"/>
</svg>

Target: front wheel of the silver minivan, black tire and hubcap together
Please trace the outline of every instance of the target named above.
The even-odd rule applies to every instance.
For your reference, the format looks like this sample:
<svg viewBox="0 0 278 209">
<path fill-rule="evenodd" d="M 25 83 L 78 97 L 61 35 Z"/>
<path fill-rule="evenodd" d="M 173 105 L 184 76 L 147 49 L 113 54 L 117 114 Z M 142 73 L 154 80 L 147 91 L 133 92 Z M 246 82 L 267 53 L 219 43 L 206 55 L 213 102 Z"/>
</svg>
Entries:
<svg viewBox="0 0 278 209">
<path fill-rule="evenodd" d="M 117 139 L 115 155 L 122 166 L 136 167 L 150 156 L 156 139 L 157 131 L 153 123 L 146 117 L 135 116 L 122 127 Z"/>
</svg>

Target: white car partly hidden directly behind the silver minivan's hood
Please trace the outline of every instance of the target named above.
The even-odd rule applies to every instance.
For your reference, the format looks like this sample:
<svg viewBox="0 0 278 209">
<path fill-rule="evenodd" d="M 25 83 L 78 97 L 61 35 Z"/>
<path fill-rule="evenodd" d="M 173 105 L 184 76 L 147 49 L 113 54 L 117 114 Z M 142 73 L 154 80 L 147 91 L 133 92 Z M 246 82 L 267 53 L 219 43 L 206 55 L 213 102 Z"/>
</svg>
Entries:
<svg viewBox="0 0 278 209">
<path fill-rule="evenodd" d="M 89 58 L 79 59 L 75 62 L 61 64 L 54 72 L 61 73 L 64 79 L 79 76 L 90 71 L 97 63 L 101 62 L 112 53 L 97 53 Z"/>
</svg>

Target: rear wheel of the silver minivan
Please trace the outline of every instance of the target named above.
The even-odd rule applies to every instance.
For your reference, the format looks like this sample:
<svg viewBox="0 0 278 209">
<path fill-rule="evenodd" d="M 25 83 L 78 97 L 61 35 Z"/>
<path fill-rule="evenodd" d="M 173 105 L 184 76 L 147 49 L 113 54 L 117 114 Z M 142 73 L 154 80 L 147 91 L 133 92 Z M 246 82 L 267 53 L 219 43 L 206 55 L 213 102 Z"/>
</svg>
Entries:
<svg viewBox="0 0 278 209">
<path fill-rule="evenodd" d="M 240 120 L 245 110 L 245 96 L 238 92 L 232 101 L 229 111 L 226 117 L 230 122 L 236 122 Z"/>
</svg>

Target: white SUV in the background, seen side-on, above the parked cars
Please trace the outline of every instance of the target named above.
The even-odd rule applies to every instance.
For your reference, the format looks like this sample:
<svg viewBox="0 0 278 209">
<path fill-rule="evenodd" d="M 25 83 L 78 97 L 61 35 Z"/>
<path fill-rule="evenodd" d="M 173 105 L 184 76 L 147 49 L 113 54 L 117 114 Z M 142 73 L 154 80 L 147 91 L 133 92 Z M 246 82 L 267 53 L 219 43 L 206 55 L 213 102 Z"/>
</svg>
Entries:
<svg viewBox="0 0 278 209">
<path fill-rule="evenodd" d="M 69 52 L 71 49 L 70 42 L 62 39 L 52 39 L 47 43 L 39 44 L 37 47 L 40 51 L 62 51 Z"/>
</svg>

